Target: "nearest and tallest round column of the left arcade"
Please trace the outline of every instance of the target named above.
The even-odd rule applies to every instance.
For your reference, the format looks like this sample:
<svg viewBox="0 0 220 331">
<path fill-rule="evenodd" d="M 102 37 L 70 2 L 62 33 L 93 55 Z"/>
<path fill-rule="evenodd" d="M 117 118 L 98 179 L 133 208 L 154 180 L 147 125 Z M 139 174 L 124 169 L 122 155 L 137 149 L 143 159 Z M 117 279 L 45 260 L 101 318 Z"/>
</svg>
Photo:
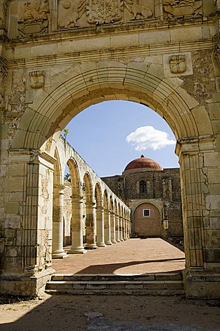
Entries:
<svg viewBox="0 0 220 331">
<path fill-rule="evenodd" d="M 67 257 L 63 250 L 63 185 L 54 185 L 52 208 L 52 259 Z"/>
</svg>

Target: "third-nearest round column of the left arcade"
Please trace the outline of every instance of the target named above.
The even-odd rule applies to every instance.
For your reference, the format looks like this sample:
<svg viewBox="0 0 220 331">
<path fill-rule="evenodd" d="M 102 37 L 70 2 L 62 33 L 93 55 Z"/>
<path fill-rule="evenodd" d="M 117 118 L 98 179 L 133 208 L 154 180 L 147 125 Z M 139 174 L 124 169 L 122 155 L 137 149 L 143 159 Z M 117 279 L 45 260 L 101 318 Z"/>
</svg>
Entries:
<svg viewBox="0 0 220 331">
<path fill-rule="evenodd" d="M 97 249 L 97 243 L 95 240 L 96 230 L 96 203 L 86 202 L 86 249 Z"/>
</svg>

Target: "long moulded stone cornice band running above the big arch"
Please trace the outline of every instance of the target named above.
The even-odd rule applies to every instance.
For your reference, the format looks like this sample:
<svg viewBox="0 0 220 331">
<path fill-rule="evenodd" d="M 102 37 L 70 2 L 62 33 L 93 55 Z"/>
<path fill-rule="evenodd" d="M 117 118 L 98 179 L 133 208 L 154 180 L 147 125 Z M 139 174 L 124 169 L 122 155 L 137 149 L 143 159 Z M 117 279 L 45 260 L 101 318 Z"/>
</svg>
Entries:
<svg viewBox="0 0 220 331">
<path fill-rule="evenodd" d="M 106 48 L 101 50 L 87 50 L 83 52 L 68 52 L 63 54 L 44 55 L 30 59 L 6 60 L 8 69 L 33 68 L 35 66 L 54 66 L 62 64 L 74 64 L 88 61 L 108 61 L 120 58 L 147 57 L 157 54 L 170 54 L 177 52 L 192 52 L 199 50 L 212 50 L 216 41 L 164 43 L 146 46 L 130 46 L 124 48 Z"/>
</svg>

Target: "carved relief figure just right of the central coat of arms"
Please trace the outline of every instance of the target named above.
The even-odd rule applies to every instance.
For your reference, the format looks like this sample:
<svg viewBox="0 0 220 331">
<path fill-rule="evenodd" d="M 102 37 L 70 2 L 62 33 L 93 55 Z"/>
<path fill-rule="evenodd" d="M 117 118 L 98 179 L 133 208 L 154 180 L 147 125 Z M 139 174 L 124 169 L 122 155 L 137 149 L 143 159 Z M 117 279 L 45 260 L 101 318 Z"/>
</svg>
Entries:
<svg viewBox="0 0 220 331">
<path fill-rule="evenodd" d="M 146 6 L 141 6 L 139 0 L 125 0 L 125 6 L 132 13 L 132 20 L 152 17 L 152 10 Z"/>
</svg>

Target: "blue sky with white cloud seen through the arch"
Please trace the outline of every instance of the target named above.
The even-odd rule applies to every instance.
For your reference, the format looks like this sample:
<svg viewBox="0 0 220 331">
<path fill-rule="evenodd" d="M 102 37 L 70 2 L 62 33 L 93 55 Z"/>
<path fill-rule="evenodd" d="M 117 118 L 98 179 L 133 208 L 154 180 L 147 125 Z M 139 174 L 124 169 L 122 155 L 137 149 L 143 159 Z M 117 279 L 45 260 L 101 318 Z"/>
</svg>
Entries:
<svg viewBox="0 0 220 331">
<path fill-rule="evenodd" d="M 74 117 L 66 128 L 68 142 L 99 177 L 121 174 L 141 154 L 162 168 L 179 167 L 170 127 L 159 114 L 139 103 L 98 103 Z"/>
</svg>

